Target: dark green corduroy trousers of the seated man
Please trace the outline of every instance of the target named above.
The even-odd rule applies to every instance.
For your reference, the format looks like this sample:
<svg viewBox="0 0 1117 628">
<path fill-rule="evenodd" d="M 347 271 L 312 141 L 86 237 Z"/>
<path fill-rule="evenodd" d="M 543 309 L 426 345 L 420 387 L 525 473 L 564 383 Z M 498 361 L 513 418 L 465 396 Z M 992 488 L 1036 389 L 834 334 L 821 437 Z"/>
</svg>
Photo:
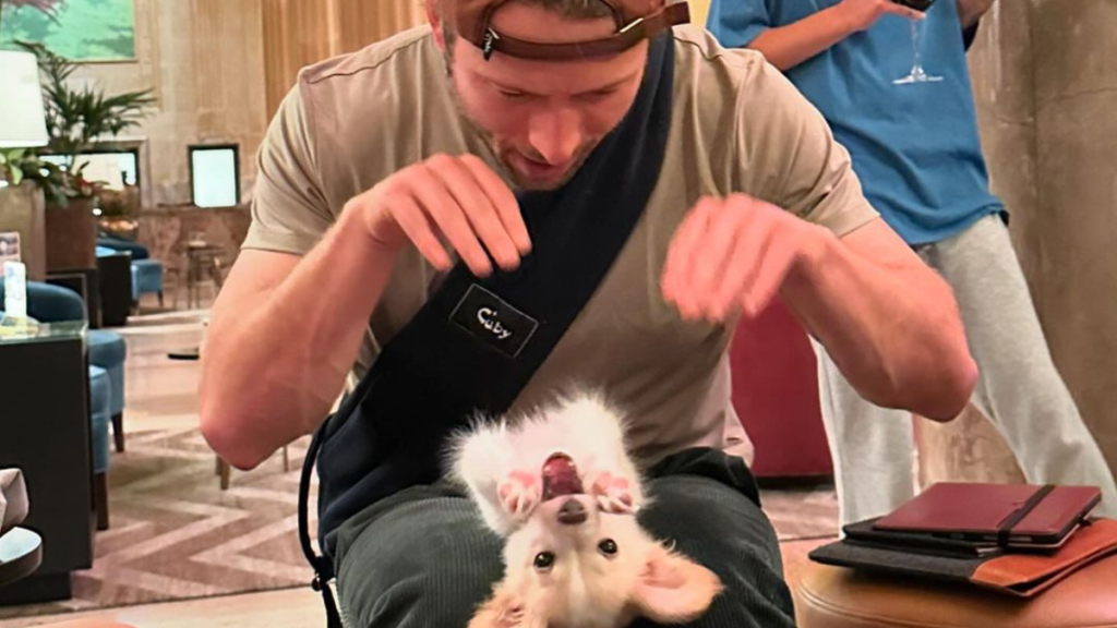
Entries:
<svg viewBox="0 0 1117 628">
<path fill-rule="evenodd" d="M 668 458 L 651 477 L 655 502 L 641 512 L 641 523 L 726 584 L 693 626 L 794 626 L 775 532 L 744 463 L 695 449 Z M 422 486 L 346 522 L 335 560 L 346 627 L 465 627 L 504 571 L 500 541 L 472 508 L 449 486 Z"/>
</svg>

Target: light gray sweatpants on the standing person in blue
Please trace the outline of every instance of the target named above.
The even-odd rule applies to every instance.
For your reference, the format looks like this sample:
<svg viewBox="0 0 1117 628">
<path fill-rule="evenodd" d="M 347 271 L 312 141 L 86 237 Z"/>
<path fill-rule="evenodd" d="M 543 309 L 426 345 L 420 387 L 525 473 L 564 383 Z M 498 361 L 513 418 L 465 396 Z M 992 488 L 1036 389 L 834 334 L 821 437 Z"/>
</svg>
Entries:
<svg viewBox="0 0 1117 628">
<path fill-rule="evenodd" d="M 1001 219 L 989 216 L 917 251 L 954 288 L 980 370 L 972 401 L 1008 440 L 1028 480 L 1100 486 L 1098 514 L 1117 516 L 1114 475 L 1051 360 Z M 910 413 L 862 399 L 813 344 L 841 521 L 884 515 L 914 495 Z"/>
</svg>

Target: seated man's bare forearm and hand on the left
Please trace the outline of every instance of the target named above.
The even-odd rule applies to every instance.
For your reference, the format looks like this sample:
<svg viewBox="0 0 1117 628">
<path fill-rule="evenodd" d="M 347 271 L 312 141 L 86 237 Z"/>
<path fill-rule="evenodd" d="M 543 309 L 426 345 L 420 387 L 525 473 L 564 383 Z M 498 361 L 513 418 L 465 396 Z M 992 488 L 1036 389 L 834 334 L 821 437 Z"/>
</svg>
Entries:
<svg viewBox="0 0 1117 628">
<path fill-rule="evenodd" d="M 202 434 L 223 459 L 252 468 L 322 424 L 409 241 L 441 270 L 452 247 L 479 276 L 490 255 L 512 269 L 531 248 L 500 178 L 476 156 L 438 155 L 350 200 L 306 255 L 242 253 L 202 351 Z"/>
</svg>

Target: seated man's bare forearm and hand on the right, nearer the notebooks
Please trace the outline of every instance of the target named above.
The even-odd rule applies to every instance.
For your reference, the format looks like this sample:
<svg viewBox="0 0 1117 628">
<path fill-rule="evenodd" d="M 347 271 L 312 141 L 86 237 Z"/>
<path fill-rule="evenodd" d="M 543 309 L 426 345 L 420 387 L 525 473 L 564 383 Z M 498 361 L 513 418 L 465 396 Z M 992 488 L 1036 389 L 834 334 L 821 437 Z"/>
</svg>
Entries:
<svg viewBox="0 0 1117 628">
<path fill-rule="evenodd" d="M 687 320 L 753 316 L 779 294 L 867 400 L 935 420 L 976 367 L 949 286 L 879 218 L 841 239 L 773 204 L 704 199 L 667 254 L 663 296 Z"/>
</svg>

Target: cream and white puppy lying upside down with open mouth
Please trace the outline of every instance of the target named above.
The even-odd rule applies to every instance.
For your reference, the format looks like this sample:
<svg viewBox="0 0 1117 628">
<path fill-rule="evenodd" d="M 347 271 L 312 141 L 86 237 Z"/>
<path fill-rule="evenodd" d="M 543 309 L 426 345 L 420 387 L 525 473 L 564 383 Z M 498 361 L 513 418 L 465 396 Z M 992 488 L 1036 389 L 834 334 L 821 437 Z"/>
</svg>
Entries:
<svg viewBox="0 0 1117 628">
<path fill-rule="evenodd" d="M 448 468 L 505 539 L 505 578 L 469 628 L 680 624 L 722 591 L 717 575 L 637 523 L 641 478 L 623 419 L 600 397 L 478 422 L 454 440 Z"/>
</svg>

